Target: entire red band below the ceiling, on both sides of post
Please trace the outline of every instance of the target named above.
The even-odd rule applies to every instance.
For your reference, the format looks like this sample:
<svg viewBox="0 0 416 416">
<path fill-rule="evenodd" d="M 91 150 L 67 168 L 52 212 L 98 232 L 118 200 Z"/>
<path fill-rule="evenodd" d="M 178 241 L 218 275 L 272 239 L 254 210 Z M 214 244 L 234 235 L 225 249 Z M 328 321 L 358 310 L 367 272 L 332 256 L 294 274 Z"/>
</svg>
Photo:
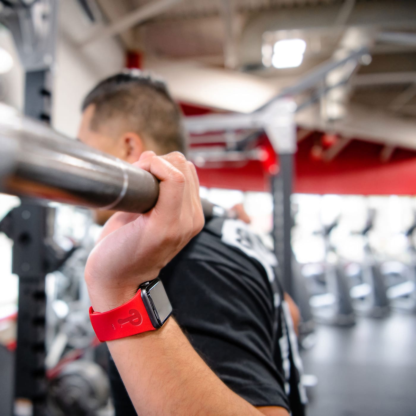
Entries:
<svg viewBox="0 0 416 416">
<path fill-rule="evenodd" d="M 203 107 L 182 105 L 188 115 L 212 112 Z M 264 146 L 264 141 L 262 145 Z M 362 195 L 416 194 L 416 152 L 395 149 L 388 162 L 380 158 L 383 145 L 352 140 L 332 161 L 317 157 L 325 145 L 322 133 L 314 132 L 298 144 L 295 155 L 294 191 Z M 330 146 L 331 144 L 329 144 Z M 332 144 L 334 145 L 334 144 Z M 270 148 L 270 144 L 266 146 Z M 313 150 L 312 150 L 313 149 Z M 269 191 L 270 174 L 260 161 L 227 162 L 197 167 L 200 183 L 210 188 Z"/>
</svg>

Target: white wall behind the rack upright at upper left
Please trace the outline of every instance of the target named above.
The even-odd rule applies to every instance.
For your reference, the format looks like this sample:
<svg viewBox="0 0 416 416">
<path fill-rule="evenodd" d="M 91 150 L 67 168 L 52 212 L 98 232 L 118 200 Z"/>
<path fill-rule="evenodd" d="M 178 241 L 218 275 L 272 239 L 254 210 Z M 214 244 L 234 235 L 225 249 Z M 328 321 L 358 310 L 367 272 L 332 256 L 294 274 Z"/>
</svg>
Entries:
<svg viewBox="0 0 416 416">
<path fill-rule="evenodd" d="M 78 42 L 95 29 L 77 2 L 65 0 L 59 5 L 59 35 L 54 68 L 52 124 L 64 134 L 75 137 L 80 118 L 80 105 L 89 89 L 102 78 L 124 66 L 120 43 L 108 38 L 86 48 Z M 0 27 L 0 47 L 9 51 L 15 61 L 13 69 L 0 75 L 0 101 L 17 109 L 23 105 L 23 72 L 10 33 Z"/>
</svg>

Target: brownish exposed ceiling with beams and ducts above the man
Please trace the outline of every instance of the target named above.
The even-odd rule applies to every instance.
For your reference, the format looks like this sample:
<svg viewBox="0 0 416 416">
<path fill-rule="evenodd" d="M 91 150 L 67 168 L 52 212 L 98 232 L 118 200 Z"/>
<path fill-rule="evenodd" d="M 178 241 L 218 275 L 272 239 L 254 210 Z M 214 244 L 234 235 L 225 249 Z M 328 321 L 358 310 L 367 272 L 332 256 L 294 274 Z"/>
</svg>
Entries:
<svg viewBox="0 0 416 416">
<path fill-rule="evenodd" d="M 140 51 L 145 68 L 166 78 L 179 99 L 231 111 L 253 111 L 319 65 L 365 47 L 370 59 L 365 56 L 352 66 L 351 62 L 342 65 L 315 87 L 295 95 L 299 104 L 312 96 L 319 97 L 329 87 L 326 94 L 312 103 L 314 110 L 308 109 L 307 114 L 313 115 L 309 119 L 302 115 L 300 119 L 308 128 L 315 125 L 330 129 L 337 125 L 342 135 L 343 119 L 348 119 L 349 127 L 353 126 L 353 115 L 360 114 L 359 109 L 364 109 L 372 123 L 377 124 L 386 123 L 383 116 L 386 114 L 386 119 L 394 120 L 396 129 L 400 130 L 400 123 L 404 128 L 397 137 L 380 140 L 416 149 L 416 134 L 411 134 L 416 132 L 413 0 L 82 3 L 94 5 L 95 18 L 106 22 L 104 28 L 86 37 L 85 42 L 94 42 L 109 33 L 119 36 L 126 50 Z M 151 10 L 152 7 L 159 10 Z M 291 69 L 266 68 L 262 63 L 262 45 L 292 37 L 306 41 L 302 64 Z M 339 81 L 342 82 L 337 87 Z M 370 124 L 369 130 L 377 134 L 383 131 L 383 126 Z M 350 130 L 348 134 L 352 134 Z"/>
</svg>

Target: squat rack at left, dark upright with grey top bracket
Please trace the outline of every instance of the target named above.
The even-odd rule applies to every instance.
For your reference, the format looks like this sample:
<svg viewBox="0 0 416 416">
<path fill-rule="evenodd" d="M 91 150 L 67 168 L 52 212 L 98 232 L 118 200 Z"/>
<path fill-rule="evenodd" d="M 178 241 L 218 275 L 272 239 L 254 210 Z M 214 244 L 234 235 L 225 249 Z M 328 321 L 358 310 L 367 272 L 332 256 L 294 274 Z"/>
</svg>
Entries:
<svg viewBox="0 0 416 416">
<path fill-rule="evenodd" d="M 58 1 L 2 3 L 0 22 L 12 33 L 25 70 L 24 113 L 49 124 Z M 12 272 L 19 276 L 15 397 L 29 399 L 34 416 L 46 414 L 45 276 L 62 260 L 51 244 L 53 218 L 53 208 L 22 200 L 1 222 L 14 242 Z"/>
</svg>

